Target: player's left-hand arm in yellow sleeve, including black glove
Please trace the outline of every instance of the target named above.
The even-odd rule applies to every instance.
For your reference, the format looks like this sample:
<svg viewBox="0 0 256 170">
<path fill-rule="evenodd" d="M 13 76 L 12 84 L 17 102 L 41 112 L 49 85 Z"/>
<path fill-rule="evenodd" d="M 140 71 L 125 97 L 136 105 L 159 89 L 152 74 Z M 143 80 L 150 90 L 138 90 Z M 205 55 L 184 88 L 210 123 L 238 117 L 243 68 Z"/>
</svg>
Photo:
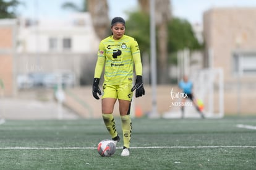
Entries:
<svg viewBox="0 0 256 170">
<path fill-rule="evenodd" d="M 94 79 L 93 79 L 93 89 L 92 89 L 92 93 L 93 93 L 93 97 L 96 98 L 96 100 L 99 100 L 99 96 L 97 95 L 97 93 L 99 95 L 101 95 L 101 90 L 99 88 L 99 83 L 100 83 L 100 77 L 105 65 L 105 61 L 106 61 L 106 57 L 105 57 L 105 49 L 102 43 L 100 43 L 99 46 L 99 51 L 98 51 L 98 59 L 96 62 L 96 66 L 95 66 L 95 72 L 94 72 Z"/>
</svg>

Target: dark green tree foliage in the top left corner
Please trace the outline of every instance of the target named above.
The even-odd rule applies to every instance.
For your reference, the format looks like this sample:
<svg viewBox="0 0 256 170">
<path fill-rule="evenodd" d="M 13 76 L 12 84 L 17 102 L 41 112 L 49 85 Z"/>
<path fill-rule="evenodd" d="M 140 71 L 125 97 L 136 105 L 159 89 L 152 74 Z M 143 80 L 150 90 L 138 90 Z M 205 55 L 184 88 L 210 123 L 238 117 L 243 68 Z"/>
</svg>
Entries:
<svg viewBox="0 0 256 170">
<path fill-rule="evenodd" d="M 17 0 L 3 1 L 0 0 L 0 19 L 11 19 L 17 15 L 16 7 L 20 5 Z"/>
</svg>

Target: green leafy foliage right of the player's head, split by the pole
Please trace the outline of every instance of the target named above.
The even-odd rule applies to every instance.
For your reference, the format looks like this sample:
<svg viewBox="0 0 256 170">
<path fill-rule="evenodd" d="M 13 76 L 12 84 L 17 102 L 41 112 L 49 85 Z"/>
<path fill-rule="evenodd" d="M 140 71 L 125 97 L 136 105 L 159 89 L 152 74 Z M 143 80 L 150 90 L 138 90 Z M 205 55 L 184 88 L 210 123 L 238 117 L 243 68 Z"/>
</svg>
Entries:
<svg viewBox="0 0 256 170">
<path fill-rule="evenodd" d="M 126 24 L 126 33 L 136 38 L 140 51 L 150 53 L 150 19 L 145 12 L 132 12 Z M 158 43 L 156 43 L 158 44 Z M 202 49 L 187 20 L 173 17 L 168 22 L 168 61 L 176 62 L 174 53 L 184 48 Z"/>
</svg>

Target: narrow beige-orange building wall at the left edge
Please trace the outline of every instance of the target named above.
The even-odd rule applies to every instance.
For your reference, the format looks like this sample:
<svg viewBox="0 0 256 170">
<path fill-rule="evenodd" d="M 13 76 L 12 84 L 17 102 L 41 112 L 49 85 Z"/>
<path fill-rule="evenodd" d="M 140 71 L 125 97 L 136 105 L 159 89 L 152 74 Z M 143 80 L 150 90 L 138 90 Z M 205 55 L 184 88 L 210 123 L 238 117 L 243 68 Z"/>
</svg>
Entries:
<svg viewBox="0 0 256 170">
<path fill-rule="evenodd" d="M 15 20 L 0 20 L 0 90 L 5 96 L 15 94 Z"/>
</svg>

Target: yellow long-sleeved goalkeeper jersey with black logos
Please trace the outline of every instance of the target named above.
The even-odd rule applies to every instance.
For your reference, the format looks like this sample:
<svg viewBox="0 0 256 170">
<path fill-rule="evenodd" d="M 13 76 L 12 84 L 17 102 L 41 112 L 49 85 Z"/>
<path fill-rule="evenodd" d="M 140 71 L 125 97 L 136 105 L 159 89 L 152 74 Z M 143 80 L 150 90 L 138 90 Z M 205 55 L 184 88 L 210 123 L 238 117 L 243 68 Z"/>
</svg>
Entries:
<svg viewBox="0 0 256 170">
<path fill-rule="evenodd" d="M 127 35 L 114 40 L 111 35 L 100 42 L 94 77 L 100 78 L 105 66 L 105 83 L 109 85 L 131 83 L 134 64 L 136 75 L 142 75 L 142 62 L 137 41 Z"/>
</svg>

